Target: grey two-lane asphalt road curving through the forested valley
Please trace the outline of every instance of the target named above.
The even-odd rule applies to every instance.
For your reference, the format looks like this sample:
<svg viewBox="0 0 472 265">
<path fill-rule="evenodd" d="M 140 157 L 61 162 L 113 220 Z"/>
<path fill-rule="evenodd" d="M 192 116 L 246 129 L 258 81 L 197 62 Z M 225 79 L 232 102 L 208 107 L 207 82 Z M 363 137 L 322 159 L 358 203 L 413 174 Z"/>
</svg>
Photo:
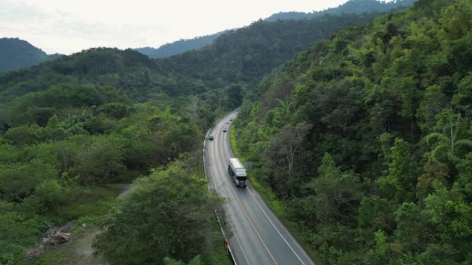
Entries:
<svg viewBox="0 0 472 265">
<path fill-rule="evenodd" d="M 279 222 L 259 194 L 249 184 L 237 188 L 227 171 L 228 159 L 233 156 L 229 147 L 229 130 L 224 125 L 236 112 L 221 120 L 209 132 L 214 140 L 205 142 L 205 167 L 210 189 L 226 198 L 226 215 L 230 220 L 233 235 L 229 246 L 237 265 L 314 265 L 301 246 Z"/>
</svg>

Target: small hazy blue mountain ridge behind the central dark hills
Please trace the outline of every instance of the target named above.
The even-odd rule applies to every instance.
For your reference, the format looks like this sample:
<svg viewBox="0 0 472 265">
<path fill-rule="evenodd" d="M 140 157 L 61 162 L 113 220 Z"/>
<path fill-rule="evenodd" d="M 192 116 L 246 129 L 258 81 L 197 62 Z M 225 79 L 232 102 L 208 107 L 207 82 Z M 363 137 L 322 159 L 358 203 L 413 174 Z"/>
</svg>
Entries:
<svg viewBox="0 0 472 265">
<path fill-rule="evenodd" d="M 193 39 L 181 39 L 179 41 L 174 41 L 173 43 L 166 43 L 157 49 L 153 47 L 139 47 L 135 50 L 141 52 L 142 54 L 146 54 L 151 58 L 167 57 L 175 54 L 181 54 L 182 52 L 186 52 L 188 50 L 196 50 L 204 47 L 212 43 L 222 33 L 223 32 L 218 32 L 211 35 L 198 36 Z"/>
</svg>

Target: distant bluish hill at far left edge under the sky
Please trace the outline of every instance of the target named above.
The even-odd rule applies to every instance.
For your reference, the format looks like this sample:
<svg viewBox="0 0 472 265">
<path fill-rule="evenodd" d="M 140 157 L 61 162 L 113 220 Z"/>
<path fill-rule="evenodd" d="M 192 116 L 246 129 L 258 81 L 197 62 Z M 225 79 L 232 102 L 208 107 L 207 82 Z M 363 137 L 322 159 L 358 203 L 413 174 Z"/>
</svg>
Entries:
<svg viewBox="0 0 472 265">
<path fill-rule="evenodd" d="M 28 41 L 16 38 L 0 39 L 0 72 L 38 65 L 58 55 L 48 55 Z"/>
</svg>

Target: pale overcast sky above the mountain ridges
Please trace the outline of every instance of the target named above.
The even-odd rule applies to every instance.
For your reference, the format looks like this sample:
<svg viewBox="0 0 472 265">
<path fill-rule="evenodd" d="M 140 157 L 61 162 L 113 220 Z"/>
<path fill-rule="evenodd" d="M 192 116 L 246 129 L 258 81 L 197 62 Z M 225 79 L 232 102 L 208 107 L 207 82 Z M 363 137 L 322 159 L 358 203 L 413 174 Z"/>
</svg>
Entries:
<svg viewBox="0 0 472 265">
<path fill-rule="evenodd" d="M 159 47 L 241 28 L 277 12 L 312 12 L 347 0 L 0 0 L 0 37 L 48 54 L 90 47 Z"/>
</svg>

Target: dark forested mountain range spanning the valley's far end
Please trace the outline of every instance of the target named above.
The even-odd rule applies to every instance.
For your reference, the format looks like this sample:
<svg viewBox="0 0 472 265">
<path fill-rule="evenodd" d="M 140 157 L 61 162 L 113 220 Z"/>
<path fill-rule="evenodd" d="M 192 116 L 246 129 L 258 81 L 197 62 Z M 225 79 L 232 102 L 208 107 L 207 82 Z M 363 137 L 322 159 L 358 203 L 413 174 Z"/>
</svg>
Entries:
<svg viewBox="0 0 472 265">
<path fill-rule="evenodd" d="M 242 90 L 291 59 L 295 52 L 328 38 L 335 30 L 365 23 L 370 14 L 325 16 L 309 21 L 257 21 L 225 32 L 212 45 L 165 59 L 149 59 L 134 50 L 95 48 L 37 67 L 0 75 L 0 102 L 47 89 L 56 83 L 99 83 L 145 101 L 166 94 L 187 96 L 209 92 L 213 105 L 236 107 Z M 228 95 L 232 95 L 229 96 Z M 213 99 L 210 99 L 213 98 Z M 235 100 L 236 99 L 236 100 Z M 218 103 L 216 103 L 218 102 Z"/>
</svg>

